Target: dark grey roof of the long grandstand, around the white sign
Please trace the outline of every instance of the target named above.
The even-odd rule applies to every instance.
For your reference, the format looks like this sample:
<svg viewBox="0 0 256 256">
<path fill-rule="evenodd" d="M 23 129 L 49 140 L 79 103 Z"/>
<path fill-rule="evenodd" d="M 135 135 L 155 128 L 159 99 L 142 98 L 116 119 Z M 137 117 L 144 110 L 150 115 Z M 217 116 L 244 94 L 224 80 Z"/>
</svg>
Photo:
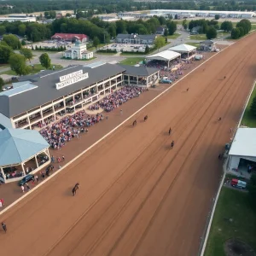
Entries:
<svg viewBox="0 0 256 256">
<path fill-rule="evenodd" d="M 60 82 L 61 76 L 79 70 L 83 70 L 83 73 L 88 73 L 89 77 L 75 84 L 61 88 L 61 90 L 56 90 L 55 84 Z M 123 73 L 124 71 L 125 69 L 123 67 L 112 64 L 102 64 L 94 68 L 75 65 L 63 68 L 59 71 L 48 70 L 38 74 L 20 77 L 20 82 L 31 82 L 31 84 L 24 86 L 32 86 L 32 90 L 22 90 L 23 86 L 20 86 L 20 88 L 9 90 L 8 95 L 0 94 L 0 113 L 3 113 L 3 115 L 8 118 L 14 117 L 32 108 L 61 98 L 62 96 L 67 96 L 91 84 L 96 84 L 96 82 L 103 79 L 108 79 L 118 73 Z M 19 90 L 19 93 L 17 93 L 16 90 Z"/>
</svg>

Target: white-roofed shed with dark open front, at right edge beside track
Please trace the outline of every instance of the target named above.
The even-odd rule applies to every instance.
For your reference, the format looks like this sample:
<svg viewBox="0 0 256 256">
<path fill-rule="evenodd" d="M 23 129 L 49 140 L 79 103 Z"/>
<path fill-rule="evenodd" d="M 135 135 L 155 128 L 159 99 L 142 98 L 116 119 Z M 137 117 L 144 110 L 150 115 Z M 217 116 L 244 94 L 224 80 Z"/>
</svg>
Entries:
<svg viewBox="0 0 256 256">
<path fill-rule="evenodd" d="M 239 128 L 230 147 L 227 169 L 247 171 L 247 166 L 256 167 L 256 128 Z M 256 170 L 254 168 L 254 170 Z"/>
</svg>

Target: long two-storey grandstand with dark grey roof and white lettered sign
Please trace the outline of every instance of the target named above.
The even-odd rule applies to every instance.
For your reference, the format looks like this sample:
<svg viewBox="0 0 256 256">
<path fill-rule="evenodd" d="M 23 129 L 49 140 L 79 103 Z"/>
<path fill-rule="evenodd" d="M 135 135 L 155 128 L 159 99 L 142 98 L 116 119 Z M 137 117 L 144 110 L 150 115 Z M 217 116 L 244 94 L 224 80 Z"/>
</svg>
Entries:
<svg viewBox="0 0 256 256">
<path fill-rule="evenodd" d="M 150 86 L 158 79 L 155 68 L 102 62 L 22 76 L 13 89 L 0 93 L 0 124 L 4 118 L 12 128 L 31 130 L 60 119 L 62 114 L 79 111 L 118 86 Z"/>
</svg>

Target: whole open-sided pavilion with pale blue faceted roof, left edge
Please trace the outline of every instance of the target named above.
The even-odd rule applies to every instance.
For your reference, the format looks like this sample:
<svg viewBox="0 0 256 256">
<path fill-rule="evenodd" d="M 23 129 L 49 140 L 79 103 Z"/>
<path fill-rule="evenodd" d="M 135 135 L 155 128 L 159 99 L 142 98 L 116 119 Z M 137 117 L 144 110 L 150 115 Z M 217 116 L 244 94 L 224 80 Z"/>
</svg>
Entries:
<svg viewBox="0 0 256 256">
<path fill-rule="evenodd" d="M 4 127 L 4 119 L 1 114 L 0 181 L 9 183 L 47 166 L 49 144 L 38 131 Z"/>
</svg>

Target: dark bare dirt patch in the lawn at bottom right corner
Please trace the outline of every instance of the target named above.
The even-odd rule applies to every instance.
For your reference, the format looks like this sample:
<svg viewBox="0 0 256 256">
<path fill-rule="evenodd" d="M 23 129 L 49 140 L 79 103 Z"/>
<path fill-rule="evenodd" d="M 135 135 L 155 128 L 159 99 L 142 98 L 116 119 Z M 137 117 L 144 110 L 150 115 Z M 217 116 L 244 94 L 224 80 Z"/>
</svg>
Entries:
<svg viewBox="0 0 256 256">
<path fill-rule="evenodd" d="M 231 238 L 224 243 L 224 251 L 227 256 L 255 256 L 252 247 L 247 245 L 244 241 L 234 238 Z"/>
</svg>

